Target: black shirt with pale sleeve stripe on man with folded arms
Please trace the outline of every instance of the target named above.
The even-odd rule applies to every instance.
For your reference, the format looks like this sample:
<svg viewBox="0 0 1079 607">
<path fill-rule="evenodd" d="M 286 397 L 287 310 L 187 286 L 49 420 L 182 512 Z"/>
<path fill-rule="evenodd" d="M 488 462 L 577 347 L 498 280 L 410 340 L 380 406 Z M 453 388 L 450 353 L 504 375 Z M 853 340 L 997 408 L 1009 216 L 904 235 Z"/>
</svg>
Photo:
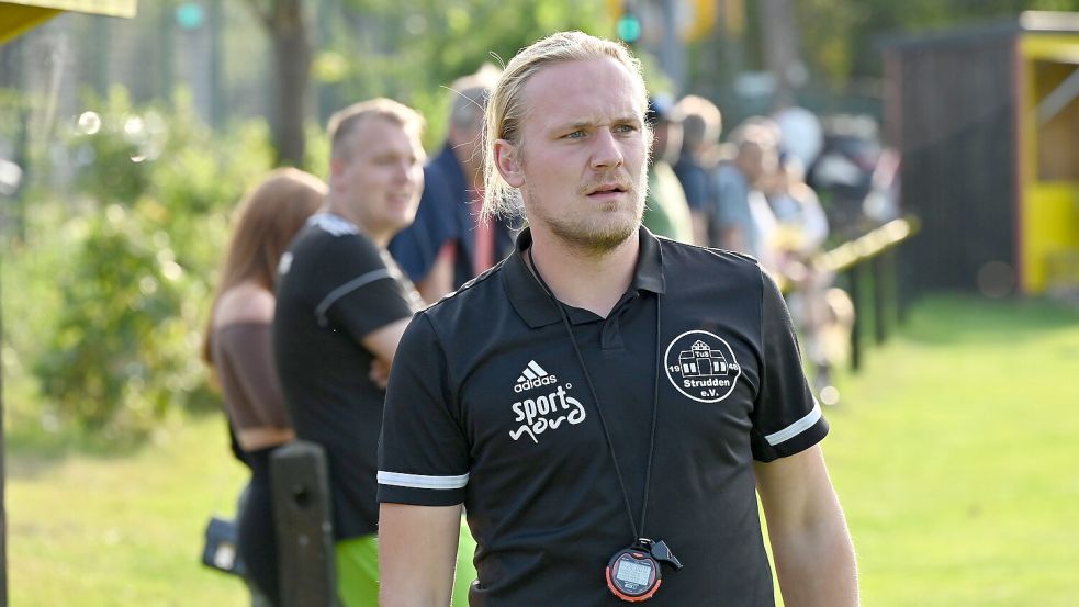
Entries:
<svg viewBox="0 0 1079 607">
<path fill-rule="evenodd" d="M 389 254 L 330 213 L 307 221 L 278 273 L 273 352 L 289 417 L 326 450 L 334 537 L 374 533 L 385 392 L 361 340 L 409 317 L 419 295 Z"/>
</svg>

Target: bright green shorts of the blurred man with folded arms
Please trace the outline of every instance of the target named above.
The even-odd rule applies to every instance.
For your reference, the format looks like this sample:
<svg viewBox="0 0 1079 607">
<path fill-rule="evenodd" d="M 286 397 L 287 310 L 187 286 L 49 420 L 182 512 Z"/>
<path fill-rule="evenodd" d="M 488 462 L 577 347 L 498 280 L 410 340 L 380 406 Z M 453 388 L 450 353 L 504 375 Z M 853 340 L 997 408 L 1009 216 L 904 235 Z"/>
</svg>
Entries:
<svg viewBox="0 0 1079 607">
<path fill-rule="evenodd" d="M 375 607 L 379 604 L 379 539 L 363 536 L 341 540 L 336 546 L 337 595 L 342 607 Z M 469 586 L 475 580 L 472 555 L 475 541 L 461 519 L 461 539 L 457 549 L 457 577 L 453 582 L 453 607 L 468 607 Z"/>
</svg>

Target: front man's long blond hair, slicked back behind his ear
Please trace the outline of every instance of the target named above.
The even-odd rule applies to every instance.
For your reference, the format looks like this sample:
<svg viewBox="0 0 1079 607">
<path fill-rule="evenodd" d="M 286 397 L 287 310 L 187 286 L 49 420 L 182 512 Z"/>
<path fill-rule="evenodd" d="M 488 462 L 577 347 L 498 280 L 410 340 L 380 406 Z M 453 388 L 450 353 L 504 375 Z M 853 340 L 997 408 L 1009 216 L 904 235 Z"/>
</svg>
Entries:
<svg viewBox="0 0 1079 607">
<path fill-rule="evenodd" d="M 522 48 L 502 72 L 484 112 L 483 215 L 513 216 L 520 213 L 517 190 L 506 183 L 495 164 L 494 144 L 505 139 L 521 145 L 521 123 L 528 109 L 524 90 L 528 80 L 549 65 L 611 58 L 626 67 L 637 86 L 637 105 L 641 116 L 648 108 L 648 91 L 641 63 L 625 45 L 582 32 L 559 32 Z"/>
</svg>

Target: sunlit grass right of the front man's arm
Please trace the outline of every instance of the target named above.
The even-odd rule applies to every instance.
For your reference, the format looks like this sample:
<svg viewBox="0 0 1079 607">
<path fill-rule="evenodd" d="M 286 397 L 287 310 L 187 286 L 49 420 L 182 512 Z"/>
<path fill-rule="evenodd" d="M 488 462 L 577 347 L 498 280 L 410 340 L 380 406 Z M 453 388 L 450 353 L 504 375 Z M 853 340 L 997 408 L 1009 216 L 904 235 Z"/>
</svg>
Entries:
<svg viewBox="0 0 1079 607">
<path fill-rule="evenodd" d="M 1076 605 L 1079 310 L 934 297 L 825 412 L 865 605 Z"/>
</svg>

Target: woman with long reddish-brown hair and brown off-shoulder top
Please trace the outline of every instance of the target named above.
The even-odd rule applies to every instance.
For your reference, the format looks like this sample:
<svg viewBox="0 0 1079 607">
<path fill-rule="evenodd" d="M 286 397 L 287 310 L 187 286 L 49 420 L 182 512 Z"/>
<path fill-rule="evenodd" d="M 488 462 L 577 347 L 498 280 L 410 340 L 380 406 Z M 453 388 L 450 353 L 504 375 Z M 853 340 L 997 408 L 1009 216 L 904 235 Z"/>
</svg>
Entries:
<svg viewBox="0 0 1079 607">
<path fill-rule="evenodd" d="M 315 176 L 279 169 L 245 196 L 203 344 L 224 392 L 233 452 L 251 473 L 238 507 L 237 548 L 257 606 L 280 603 L 270 454 L 294 438 L 270 345 L 274 277 L 289 241 L 325 195 Z"/>
</svg>

